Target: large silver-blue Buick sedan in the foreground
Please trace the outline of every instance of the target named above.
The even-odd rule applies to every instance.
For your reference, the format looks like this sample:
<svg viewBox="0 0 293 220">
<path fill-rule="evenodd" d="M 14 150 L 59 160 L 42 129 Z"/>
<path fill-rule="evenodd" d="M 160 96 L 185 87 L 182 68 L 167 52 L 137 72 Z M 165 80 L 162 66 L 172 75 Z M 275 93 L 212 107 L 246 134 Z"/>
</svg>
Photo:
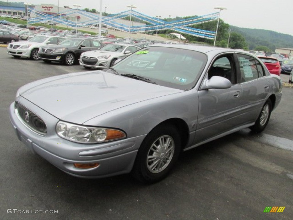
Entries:
<svg viewBox="0 0 293 220">
<path fill-rule="evenodd" d="M 281 97 L 280 77 L 248 53 L 158 44 L 106 71 L 24 85 L 10 120 L 33 153 L 70 175 L 156 182 L 180 151 L 263 131 Z"/>
</svg>

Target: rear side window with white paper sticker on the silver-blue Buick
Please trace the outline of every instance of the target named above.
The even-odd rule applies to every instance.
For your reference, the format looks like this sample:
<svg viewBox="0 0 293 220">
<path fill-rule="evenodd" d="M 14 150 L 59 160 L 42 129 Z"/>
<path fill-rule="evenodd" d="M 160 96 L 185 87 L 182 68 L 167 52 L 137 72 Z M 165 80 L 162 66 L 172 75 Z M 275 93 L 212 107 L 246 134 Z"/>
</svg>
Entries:
<svg viewBox="0 0 293 220">
<path fill-rule="evenodd" d="M 245 54 L 237 54 L 240 66 L 241 82 L 249 82 L 265 76 L 263 66 L 254 57 Z"/>
</svg>

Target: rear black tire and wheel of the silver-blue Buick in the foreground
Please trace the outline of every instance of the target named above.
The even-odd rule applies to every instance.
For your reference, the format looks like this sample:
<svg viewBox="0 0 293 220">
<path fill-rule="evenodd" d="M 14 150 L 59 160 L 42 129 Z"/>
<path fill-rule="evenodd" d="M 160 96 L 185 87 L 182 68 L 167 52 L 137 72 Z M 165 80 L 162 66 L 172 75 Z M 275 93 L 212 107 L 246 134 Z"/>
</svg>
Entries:
<svg viewBox="0 0 293 220">
<path fill-rule="evenodd" d="M 254 131 L 255 133 L 262 132 L 270 120 L 271 112 L 272 112 L 272 101 L 268 99 L 265 102 L 263 108 L 261 109 L 258 119 L 255 121 L 255 124 L 250 127 L 250 129 Z"/>
</svg>

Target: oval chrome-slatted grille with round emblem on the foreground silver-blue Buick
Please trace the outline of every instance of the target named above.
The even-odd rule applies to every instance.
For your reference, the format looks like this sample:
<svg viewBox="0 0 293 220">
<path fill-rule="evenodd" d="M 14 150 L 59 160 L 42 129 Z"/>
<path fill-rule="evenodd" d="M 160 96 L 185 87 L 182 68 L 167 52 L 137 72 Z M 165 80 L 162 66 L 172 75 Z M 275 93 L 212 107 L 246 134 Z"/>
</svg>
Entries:
<svg viewBox="0 0 293 220">
<path fill-rule="evenodd" d="M 42 136 L 47 133 L 45 122 L 37 114 L 18 102 L 15 102 L 15 109 L 18 117 L 28 128 Z"/>
</svg>

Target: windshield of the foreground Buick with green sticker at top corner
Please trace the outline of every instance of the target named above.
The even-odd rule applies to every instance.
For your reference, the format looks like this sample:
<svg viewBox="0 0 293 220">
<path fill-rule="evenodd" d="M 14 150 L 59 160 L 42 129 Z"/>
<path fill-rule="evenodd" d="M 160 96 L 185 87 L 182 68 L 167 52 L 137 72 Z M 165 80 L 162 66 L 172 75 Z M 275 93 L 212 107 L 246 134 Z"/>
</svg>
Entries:
<svg viewBox="0 0 293 220">
<path fill-rule="evenodd" d="M 116 74 L 143 77 L 161 86 L 189 90 L 194 87 L 206 62 L 207 56 L 197 51 L 148 47 L 121 60 L 113 69 Z"/>
</svg>

